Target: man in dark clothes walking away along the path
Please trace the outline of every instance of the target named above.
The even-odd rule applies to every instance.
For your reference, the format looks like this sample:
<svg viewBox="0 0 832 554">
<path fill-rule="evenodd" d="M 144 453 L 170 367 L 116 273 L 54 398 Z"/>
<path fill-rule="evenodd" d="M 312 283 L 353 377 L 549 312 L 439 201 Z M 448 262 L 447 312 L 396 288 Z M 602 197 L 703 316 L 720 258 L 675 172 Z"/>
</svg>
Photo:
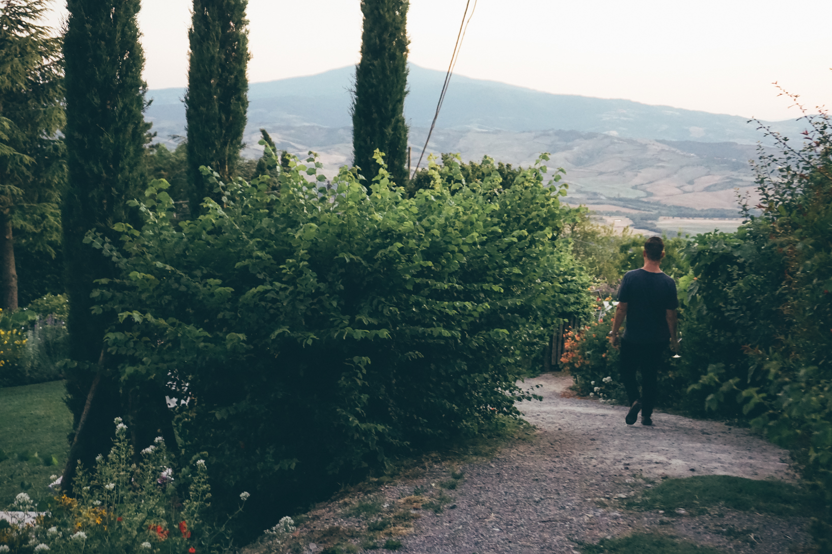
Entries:
<svg viewBox="0 0 832 554">
<path fill-rule="evenodd" d="M 652 425 L 656 405 L 656 379 L 664 362 L 667 342 L 676 351 L 676 283 L 659 269 L 665 257 L 665 243 L 651 236 L 644 245 L 644 267 L 627 271 L 618 289 L 616 319 L 610 331 L 610 343 L 618 348 L 618 328 L 626 318 L 621 340 L 621 376 L 626 388 L 630 411 L 624 421 L 636 423 L 641 411 L 641 424 Z M 641 394 L 636 371 L 641 369 Z"/>
</svg>

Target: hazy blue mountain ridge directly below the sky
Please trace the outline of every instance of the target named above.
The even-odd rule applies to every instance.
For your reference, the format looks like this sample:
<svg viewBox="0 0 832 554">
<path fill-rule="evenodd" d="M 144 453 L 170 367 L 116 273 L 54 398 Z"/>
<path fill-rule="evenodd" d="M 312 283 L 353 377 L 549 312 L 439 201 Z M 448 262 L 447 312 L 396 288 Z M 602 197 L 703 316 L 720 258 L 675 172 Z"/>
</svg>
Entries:
<svg viewBox="0 0 832 554">
<path fill-rule="evenodd" d="M 342 67 L 309 77 L 251 83 L 248 133 L 260 127 L 315 125 L 330 128 L 351 125 L 350 95 L 354 67 Z M 410 64 L 410 93 L 405 117 L 414 127 L 427 127 L 433 119 L 444 72 Z M 183 135 L 184 89 L 152 90 L 147 119 L 159 138 Z M 788 134 L 800 130 L 795 121 L 775 127 Z M 550 129 L 607 133 L 665 141 L 733 141 L 753 144 L 762 138 L 744 117 L 648 106 L 629 100 L 550 94 L 454 75 L 437 126 L 440 129 L 489 131 L 543 131 Z"/>
</svg>

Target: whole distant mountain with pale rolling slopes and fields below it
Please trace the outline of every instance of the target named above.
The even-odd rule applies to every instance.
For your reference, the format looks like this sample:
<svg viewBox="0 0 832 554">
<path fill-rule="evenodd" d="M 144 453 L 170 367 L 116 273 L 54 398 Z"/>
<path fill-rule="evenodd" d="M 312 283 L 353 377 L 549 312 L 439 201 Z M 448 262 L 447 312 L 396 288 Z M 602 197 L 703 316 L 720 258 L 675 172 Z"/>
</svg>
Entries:
<svg viewBox="0 0 832 554">
<path fill-rule="evenodd" d="M 353 67 L 310 77 L 251 83 L 245 156 L 259 156 L 260 127 L 281 150 L 298 156 L 316 151 L 324 174 L 352 161 L 349 116 Z M 410 124 L 413 165 L 428 134 L 444 73 L 410 66 L 405 116 Z M 150 91 L 146 118 L 157 140 L 185 134 L 184 89 Z M 796 121 L 770 124 L 796 135 Z M 763 138 L 754 124 L 726 116 L 537 92 L 499 82 L 454 76 L 429 151 L 459 152 L 464 161 L 488 154 L 515 165 L 532 164 L 542 151 L 548 166 L 563 166 L 576 201 L 639 204 L 640 210 L 677 215 L 682 208 L 735 212 L 735 189 L 752 193 L 748 160 Z M 423 165 L 426 161 L 423 161 Z"/>
</svg>

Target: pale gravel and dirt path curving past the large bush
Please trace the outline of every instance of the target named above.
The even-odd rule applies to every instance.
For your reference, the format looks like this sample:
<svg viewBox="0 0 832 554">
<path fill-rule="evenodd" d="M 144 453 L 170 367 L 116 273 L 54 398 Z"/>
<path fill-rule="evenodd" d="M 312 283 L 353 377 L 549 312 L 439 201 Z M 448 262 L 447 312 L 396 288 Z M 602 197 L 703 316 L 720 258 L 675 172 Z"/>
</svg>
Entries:
<svg viewBox="0 0 832 554">
<path fill-rule="evenodd" d="M 666 413 L 654 414 L 653 427 L 628 427 L 624 407 L 562 398 L 571 384 L 568 376 L 543 375 L 526 384 L 542 385 L 536 389 L 542 402 L 520 406 L 537 426 L 537 440 L 463 467 L 466 478 L 452 493 L 453 509 L 425 513 L 400 552 L 577 552 L 578 542 L 655 530 L 756 554 L 794 552 L 808 540 L 802 518 L 730 510 L 721 516 L 666 517 L 615 507 L 618 495 L 650 487 L 650 478 L 662 476 L 793 480 L 784 450 L 745 429 Z M 443 468 L 426 478 L 438 482 Z M 406 496 L 405 489 L 389 487 L 386 494 Z"/>
</svg>

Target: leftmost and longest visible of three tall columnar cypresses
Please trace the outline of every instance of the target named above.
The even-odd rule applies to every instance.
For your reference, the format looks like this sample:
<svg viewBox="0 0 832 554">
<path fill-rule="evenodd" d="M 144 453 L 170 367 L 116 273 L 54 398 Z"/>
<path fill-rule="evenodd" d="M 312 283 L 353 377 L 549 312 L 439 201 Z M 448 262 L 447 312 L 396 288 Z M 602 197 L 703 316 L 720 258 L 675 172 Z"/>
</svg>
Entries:
<svg viewBox="0 0 832 554">
<path fill-rule="evenodd" d="M 64 36 L 67 106 L 67 191 L 62 204 L 63 249 L 69 293 L 70 356 L 67 403 L 75 438 L 63 485 L 70 487 L 75 461 L 90 467 L 110 446 L 113 418 L 127 416 L 115 363 L 103 348 L 111 321 L 92 314 L 95 279 L 116 268 L 90 245 L 87 231 L 117 241 L 111 226 L 128 220 L 126 200 L 138 196 L 144 179 L 146 84 L 136 14 L 140 0 L 68 0 Z M 164 397 L 162 398 L 162 402 Z"/>
</svg>

